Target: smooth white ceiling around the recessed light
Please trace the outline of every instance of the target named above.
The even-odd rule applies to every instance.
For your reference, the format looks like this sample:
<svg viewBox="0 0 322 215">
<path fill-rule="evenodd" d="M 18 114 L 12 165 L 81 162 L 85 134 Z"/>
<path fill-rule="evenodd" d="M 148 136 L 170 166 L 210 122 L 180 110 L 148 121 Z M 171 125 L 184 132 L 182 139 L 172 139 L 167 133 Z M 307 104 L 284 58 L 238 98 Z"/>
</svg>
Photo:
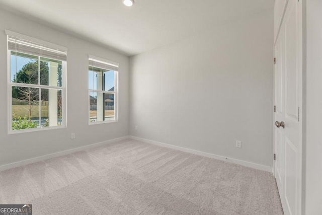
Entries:
<svg viewBox="0 0 322 215">
<path fill-rule="evenodd" d="M 0 0 L 0 7 L 128 56 L 273 10 L 275 0 Z"/>
</svg>

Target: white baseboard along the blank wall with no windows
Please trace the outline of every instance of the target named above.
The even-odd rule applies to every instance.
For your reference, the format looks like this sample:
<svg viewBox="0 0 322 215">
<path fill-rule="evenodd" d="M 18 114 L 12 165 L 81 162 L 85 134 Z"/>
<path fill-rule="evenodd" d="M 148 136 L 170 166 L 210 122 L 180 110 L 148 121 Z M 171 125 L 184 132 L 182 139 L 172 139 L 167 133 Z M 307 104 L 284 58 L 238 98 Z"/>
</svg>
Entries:
<svg viewBox="0 0 322 215">
<path fill-rule="evenodd" d="M 161 146 L 161 147 L 167 147 L 167 148 L 171 148 L 171 149 L 174 149 L 174 150 L 179 150 L 179 151 L 183 151 L 183 152 L 187 152 L 187 153 L 191 153 L 191 154 L 195 154 L 195 155 L 204 156 L 204 157 L 207 157 L 207 158 L 213 158 L 213 159 L 216 159 L 216 160 L 221 160 L 221 161 L 225 161 L 225 162 L 229 162 L 229 163 L 233 163 L 233 164 L 239 164 L 239 165 L 254 168 L 254 169 L 257 169 L 257 170 L 273 172 L 272 167 L 264 166 L 264 165 L 261 165 L 261 164 L 256 164 L 256 163 L 252 163 L 252 162 L 248 162 L 248 161 L 242 161 L 242 160 L 238 160 L 238 159 L 234 159 L 234 158 L 227 158 L 227 157 L 224 157 L 224 156 L 214 155 L 214 154 L 201 152 L 201 151 L 197 151 L 197 150 L 191 150 L 191 149 L 187 149 L 187 148 L 183 148 L 183 147 L 177 147 L 177 146 L 170 145 L 170 144 L 164 144 L 163 142 L 157 142 L 157 141 L 144 139 L 144 138 L 140 138 L 140 137 L 136 137 L 136 136 L 130 136 L 130 138 L 134 139 L 134 140 L 146 142 L 147 144 L 153 144 L 153 145 L 157 145 L 157 146 Z"/>
</svg>

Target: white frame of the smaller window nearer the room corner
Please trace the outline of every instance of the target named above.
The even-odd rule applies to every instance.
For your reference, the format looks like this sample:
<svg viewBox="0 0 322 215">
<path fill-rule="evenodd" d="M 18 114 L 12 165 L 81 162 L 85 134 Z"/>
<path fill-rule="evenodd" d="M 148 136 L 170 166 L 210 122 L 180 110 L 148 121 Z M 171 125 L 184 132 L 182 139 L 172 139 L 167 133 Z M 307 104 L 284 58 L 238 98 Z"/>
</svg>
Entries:
<svg viewBox="0 0 322 215">
<path fill-rule="evenodd" d="M 92 59 L 92 60 L 97 60 L 97 61 L 101 61 L 105 64 L 110 64 L 110 65 L 115 65 L 116 67 L 119 67 L 119 63 L 111 61 L 111 60 L 107 60 L 101 57 L 97 57 L 94 55 L 90 55 L 88 56 L 88 59 Z M 118 115 L 118 109 L 119 109 L 119 92 L 118 92 L 118 76 L 119 76 L 119 69 L 117 70 L 113 70 L 114 71 L 114 91 L 103 91 L 103 90 L 94 90 L 94 89 L 90 89 L 90 85 L 89 85 L 89 67 L 91 67 L 92 65 L 90 65 L 90 63 L 88 63 L 88 71 L 87 71 L 87 89 L 88 89 L 88 108 L 89 108 L 89 112 L 88 112 L 88 122 L 89 125 L 97 125 L 97 124 L 105 124 L 105 123 L 112 123 L 112 122 L 118 122 L 119 121 L 119 115 Z M 94 66 L 96 67 L 96 66 Z M 96 92 L 96 93 L 103 93 L 104 94 L 114 94 L 114 119 L 110 119 L 110 120 L 104 120 L 103 121 L 96 121 L 96 122 L 91 122 L 90 117 L 91 117 L 91 101 L 90 101 L 90 93 L 91 92 Z"/>
</svg>

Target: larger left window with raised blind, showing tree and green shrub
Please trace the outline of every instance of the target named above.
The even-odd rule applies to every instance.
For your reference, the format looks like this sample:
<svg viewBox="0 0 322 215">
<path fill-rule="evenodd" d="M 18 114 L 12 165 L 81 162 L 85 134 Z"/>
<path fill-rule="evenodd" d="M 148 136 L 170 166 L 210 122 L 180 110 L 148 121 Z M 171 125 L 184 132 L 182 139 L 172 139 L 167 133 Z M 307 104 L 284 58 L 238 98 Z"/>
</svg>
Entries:
<svg viewBox="0 0 322 215">
<path fill-rule="evenodd" d="M 9 132 L 66 126 L 67 48 L 6 30 Z"/>
</svg>

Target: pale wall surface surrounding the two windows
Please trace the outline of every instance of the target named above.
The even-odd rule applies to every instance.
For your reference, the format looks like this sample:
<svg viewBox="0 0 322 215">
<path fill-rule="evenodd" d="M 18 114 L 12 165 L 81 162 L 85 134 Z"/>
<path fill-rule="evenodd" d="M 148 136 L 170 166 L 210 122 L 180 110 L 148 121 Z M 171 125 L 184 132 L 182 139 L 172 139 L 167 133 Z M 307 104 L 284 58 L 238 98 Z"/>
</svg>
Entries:
<svg viewBox="0 0 322 215">
<path fill-rule="evenodd" d="M 67 128 L 8 134 L 5 29 L 62 45 L 67 52 Z M 98 32 L 99 33 L 99 32 Z M 88 54 L 120 63 L 119 122 L 89 125 Z M 0 166 L 128 135 L 129 58 L 0 10 Z M 71 140 L 71 132 L 76 139 Z"/>
</svg>

